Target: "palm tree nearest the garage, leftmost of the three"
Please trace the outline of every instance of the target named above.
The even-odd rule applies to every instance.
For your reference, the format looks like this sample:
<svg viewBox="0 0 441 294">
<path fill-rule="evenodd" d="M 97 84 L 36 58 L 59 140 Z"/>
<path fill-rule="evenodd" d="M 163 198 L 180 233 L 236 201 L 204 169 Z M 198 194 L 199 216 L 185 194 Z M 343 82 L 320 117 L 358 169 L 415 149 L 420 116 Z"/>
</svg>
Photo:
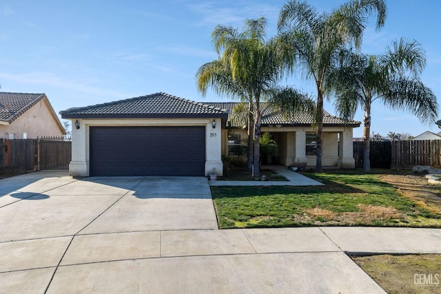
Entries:
<svg viewBox="0 0 441 294">
<path fill-rule="evenodd" d="M 277 50 L 278 43 L 265 38 L 267 21 L 260 17 L 245 20 L 243 32 L 225 25 L 217 25 L 212 32 L 212 43 L 218 59 L 205 63 L 196 73 L 198 90 L 205 96 L 209 87 L 216 94 L 238 98 L 249 105 L 249 164 L 253 175 L 259 176 L 260 120 L 263 101 L 277 93 L 282 70 Z M 302 105 L 302 103 L 298 103 Z"/>
</svg>

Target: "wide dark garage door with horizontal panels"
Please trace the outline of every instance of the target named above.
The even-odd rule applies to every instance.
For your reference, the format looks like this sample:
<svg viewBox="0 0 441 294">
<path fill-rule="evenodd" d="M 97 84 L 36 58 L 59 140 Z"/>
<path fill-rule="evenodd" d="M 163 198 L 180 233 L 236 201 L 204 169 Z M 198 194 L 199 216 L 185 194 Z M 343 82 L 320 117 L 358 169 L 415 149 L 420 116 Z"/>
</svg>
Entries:
<svg viewBox="0 0 441 294">
<path fill-rule="evenodd" d="M 204 176 L 205 127 L 90 127 L 91 176 Z"/>
</svg>

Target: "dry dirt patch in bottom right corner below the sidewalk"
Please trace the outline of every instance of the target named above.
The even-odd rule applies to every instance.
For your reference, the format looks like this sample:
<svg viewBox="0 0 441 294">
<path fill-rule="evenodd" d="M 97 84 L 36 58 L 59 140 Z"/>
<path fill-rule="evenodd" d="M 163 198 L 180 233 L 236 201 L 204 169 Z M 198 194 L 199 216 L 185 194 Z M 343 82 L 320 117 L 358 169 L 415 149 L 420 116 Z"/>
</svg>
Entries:
<svg viewBox="0 0 441 294">
<path fill-rule="evenodd" d="M 387 293 L 441 293 L 441 255 L 351 258 Z"/>
</svg>

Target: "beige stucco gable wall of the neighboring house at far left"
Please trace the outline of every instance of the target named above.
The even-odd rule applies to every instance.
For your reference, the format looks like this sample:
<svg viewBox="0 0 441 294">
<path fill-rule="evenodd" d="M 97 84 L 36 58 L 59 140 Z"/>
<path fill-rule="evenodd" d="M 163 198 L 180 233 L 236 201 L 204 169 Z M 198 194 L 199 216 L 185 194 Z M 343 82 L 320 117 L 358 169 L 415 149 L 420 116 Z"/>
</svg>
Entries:
<svg viewBox="0 0 441 294">
<path fill-rule="evenodd" d="M 52 111 L 47 98 L 30 107 L 12 123 L 0 121 L 0 138 L 33 139 L 42 136 L 63 136 L 64 129 Z"/>
</svg>

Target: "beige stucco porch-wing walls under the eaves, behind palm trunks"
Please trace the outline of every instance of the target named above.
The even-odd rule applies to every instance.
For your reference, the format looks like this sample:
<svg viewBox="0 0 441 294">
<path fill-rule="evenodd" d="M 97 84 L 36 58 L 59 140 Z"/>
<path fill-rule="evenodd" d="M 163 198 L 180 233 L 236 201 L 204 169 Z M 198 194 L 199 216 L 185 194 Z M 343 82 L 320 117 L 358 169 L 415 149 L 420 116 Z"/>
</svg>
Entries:
<svg viewBox="0 0 441 294">
<path fill-rule="evenodd" d="M 247 138 L 243 129 L 223 131 L 222 153 L 228 155 L 228 132 L 240 134 L 242 140 Z M 316 156 L 306 154 L 306 135 L 314 134 L 311 127 L 262 127 L 262 133 L 269 132 L 279 147 L 279 163 L 294 167 L 315 167 Z M 351 127 L 323 128 L 323 167 L 340 167 L 354 169 L 353 129 Z M 244 141 L 243 141 L 244 142 Z M 246 144 L 244 142 L 244 144 Z"/>
</svg>

